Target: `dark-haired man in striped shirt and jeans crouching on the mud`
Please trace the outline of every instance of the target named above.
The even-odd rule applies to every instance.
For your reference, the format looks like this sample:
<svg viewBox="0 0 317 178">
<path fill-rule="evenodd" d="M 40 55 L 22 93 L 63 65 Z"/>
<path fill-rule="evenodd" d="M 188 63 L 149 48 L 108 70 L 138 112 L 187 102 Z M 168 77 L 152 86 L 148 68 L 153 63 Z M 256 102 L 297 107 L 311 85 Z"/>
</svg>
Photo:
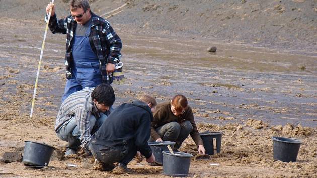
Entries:
<svg viewBox="0 0 317 178">
<path fill-rule="evenodd" d="M 80 145 L 87 148 L 91 135 L 107 118 L 115 99 L 113 88 L 108 84 L 84 88 L 67 97 L 61 104 L 55 124 L 58 138 L 68 142 L 65 155 L 76 154 Z"/>
</svg>

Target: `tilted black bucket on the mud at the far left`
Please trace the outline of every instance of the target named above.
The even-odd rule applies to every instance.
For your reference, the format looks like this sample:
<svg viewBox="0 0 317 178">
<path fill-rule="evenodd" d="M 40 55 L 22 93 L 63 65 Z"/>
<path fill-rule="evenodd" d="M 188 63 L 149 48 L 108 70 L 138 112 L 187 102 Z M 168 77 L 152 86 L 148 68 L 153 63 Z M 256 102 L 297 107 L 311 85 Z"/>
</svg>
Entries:
<svg viewBox="0 0 317 178">
<path fill-rule="evenodd" d="M 47 166 L 54 150 L 54 147 L 44 143 L 25 141 L 22 162 L 34 167 Z"/>
</svg>

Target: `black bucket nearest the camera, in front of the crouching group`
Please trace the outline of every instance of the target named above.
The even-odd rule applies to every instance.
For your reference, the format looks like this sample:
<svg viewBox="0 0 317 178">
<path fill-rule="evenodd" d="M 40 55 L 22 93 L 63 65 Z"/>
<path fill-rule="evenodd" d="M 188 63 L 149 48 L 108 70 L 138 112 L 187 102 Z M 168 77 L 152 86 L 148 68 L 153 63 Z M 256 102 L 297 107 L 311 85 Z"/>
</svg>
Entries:
<svg viewBox="0 0 317 178">
<path fill-rule="evenodd" d="M 163 175 L 186 177 L 188 175 L 190 160 L 193 155 L 189 153 L 163 151 Z"/>
</svg>

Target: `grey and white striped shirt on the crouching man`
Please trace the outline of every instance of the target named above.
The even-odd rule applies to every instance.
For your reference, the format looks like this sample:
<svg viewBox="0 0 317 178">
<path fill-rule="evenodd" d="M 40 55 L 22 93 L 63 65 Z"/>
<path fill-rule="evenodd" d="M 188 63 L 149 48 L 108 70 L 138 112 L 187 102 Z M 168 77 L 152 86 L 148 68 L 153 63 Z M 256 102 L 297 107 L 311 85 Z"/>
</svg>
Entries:
<svg viewBox="0 0 317 178">
<path fill-rule="evenodd" d="M 100 111 L 97 109 L 91 97 L 93 90 L 94 88 L 84 88 L 83 90 L 72 93 L 66 98 L 61 104 L 56 118 L 56 132 L 62 125 L 68 123 L 72 117 L 75 117 L 76 124 L 81 132 L 81 143 L 83 144 L 90 140 L 89 118 L 91 115 L 94 115 L 96 119 L 100 117 Z"/>
</svg>

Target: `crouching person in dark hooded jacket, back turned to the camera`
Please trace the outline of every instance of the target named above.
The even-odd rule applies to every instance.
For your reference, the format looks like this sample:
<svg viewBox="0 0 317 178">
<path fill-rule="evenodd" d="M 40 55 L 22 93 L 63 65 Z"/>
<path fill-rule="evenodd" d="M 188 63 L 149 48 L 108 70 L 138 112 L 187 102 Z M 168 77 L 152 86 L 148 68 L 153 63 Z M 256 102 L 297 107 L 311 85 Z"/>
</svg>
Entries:
<svg viewBox="0 0 317 178">
<path fill-rule="evenodd" d="M 103 170 L 112 170 L 115 162 L 118 162 L 118 167 L 128 170 L 127 164 L 137 151 L 145 156 L 147 162 L 155 162 L 147 141 L 156 105 L 153 97 L 142 95 L 139 100 L 115 108 L 103 122 L 89 146 L 94 157 L 103 162 Z"/>
</svg>

